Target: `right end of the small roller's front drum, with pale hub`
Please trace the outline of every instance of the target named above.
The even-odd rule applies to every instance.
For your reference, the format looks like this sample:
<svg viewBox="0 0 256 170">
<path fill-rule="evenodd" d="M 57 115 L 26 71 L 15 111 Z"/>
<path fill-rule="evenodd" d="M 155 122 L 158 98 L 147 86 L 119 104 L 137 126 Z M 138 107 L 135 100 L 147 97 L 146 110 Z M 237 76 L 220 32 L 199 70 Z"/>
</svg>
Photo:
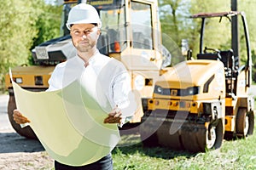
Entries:
<svg viewBox="0 0 256 170">
<path fill-rule="evenodd" d="M 206 150 L 220 148 L 224 138 L 223 122 L 219 119 L 217 122 L 209 124 L 206 133 Z"/>
</svg>

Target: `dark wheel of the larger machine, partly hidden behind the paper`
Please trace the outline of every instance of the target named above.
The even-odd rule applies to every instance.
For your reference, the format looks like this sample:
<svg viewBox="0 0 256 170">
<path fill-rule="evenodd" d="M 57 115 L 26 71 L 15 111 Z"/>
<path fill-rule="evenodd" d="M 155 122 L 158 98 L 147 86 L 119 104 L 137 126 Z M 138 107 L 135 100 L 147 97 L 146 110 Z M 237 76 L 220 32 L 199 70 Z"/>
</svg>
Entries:
<svg viewBox="0 0 256 170">
<path fill-rule="evenodd" d="M 9 95 L 8 116 L 9 116 L 9 122 L 11 123 L 12 127 L 21 136 L 24 136 L 29 139 L 38 139 L 37 135 L 33 132 L 32 128 L 30 126 L 21 128 L 20 125 L 14 121 L 13 112 L 16 108 L 17 107 L 16 107 L 16 102 L 15 102 L 15 96 Z"/>
</svg>

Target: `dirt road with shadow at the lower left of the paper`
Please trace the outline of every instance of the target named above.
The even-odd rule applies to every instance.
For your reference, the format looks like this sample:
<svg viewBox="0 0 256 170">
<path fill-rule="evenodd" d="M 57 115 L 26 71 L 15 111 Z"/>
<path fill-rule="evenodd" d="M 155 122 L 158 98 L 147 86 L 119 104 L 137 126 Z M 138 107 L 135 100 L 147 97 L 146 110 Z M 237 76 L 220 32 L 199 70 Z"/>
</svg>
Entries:
<svg viewBox="0 0 256 170">
<path fill-rule="evenodd" d="M 0 95 L 0 170 L 54 169 L 53 160 L 38 140 L 15 133 L 9 124 L 7 95 Z"/>
</svg>

